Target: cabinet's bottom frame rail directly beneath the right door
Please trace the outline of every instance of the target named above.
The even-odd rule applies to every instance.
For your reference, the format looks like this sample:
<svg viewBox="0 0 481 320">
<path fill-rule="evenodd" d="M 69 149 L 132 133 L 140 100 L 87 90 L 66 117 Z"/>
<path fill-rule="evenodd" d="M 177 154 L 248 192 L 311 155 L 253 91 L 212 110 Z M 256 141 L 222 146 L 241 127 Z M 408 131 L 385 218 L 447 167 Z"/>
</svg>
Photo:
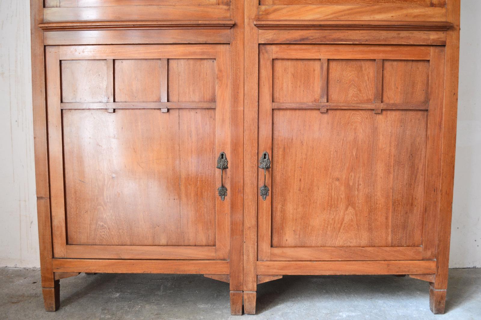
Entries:
<svg viewBox="0 0 481 320">
<path fill-rule="evenodd" d="M 257 261 L 263 275 L 430 274 L 435 260 L 416 261 Z"/>
</svg>

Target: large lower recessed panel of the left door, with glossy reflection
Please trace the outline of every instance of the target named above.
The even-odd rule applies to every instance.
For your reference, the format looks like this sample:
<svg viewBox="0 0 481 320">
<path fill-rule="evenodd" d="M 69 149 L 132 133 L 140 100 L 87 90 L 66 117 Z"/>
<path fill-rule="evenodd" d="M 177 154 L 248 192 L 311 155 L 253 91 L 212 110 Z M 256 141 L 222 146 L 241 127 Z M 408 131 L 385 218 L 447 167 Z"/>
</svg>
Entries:
<svg viewBox="0 0 481 320">
<path fill-rule="evenodd" d="M 215 245 L 215 110 L 64 110 L 68 244 Z"/>
</svg>

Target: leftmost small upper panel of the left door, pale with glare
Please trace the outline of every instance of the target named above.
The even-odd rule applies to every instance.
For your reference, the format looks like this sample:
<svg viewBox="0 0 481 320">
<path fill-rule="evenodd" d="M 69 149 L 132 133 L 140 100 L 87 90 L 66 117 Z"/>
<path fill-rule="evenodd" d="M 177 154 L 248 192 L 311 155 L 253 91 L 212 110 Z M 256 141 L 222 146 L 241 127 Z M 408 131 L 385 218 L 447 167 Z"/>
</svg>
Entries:
<svg viewBox="0 0 481 320">
<path fill-rule="evenodd" d="M 107 102 L 107 61 L 61 62 L 62 102 Z"/>
</svg>

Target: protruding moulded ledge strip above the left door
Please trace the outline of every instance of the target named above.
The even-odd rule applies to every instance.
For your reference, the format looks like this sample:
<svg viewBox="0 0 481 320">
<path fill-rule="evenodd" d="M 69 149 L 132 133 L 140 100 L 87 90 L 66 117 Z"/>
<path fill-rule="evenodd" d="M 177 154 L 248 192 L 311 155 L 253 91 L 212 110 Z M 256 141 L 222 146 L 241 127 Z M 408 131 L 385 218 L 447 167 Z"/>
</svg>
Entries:
<svg viewBox="0 0 481 320">
<path fill-rule="evenodd" d="M 63 21 L 38 25 L 45 31 L 103 29 L 230 29 L 232 20 Z"/>
</svg>

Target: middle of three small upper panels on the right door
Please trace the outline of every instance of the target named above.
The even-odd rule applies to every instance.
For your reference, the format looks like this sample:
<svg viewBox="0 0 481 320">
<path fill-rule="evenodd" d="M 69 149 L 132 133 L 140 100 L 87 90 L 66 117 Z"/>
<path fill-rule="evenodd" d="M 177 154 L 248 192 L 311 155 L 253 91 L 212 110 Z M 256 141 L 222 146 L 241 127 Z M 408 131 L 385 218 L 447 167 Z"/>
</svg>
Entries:
<svg viewBox="0 0 481 320">
<path fill-rule="evenodd" d="M 375 60 L 329 59 L 328 102 L 374 102 Z"/>
</svg>

